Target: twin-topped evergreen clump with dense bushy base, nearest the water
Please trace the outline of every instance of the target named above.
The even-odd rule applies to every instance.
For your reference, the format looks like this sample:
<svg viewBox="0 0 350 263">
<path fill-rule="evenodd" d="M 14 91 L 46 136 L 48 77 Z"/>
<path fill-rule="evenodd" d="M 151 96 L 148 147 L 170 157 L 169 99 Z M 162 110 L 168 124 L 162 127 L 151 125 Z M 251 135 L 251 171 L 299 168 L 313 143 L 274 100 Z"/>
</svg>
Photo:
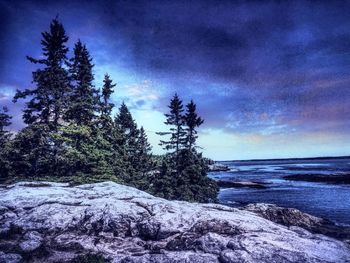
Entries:
<svg viewBox="0 0 350 263">
<path fill-rule="evenodd" d="M 168 151 L 175 149 L 175 152 L 171 152 L 164 159 L 159 169 L 159 178 L 154 180 L 151 189 L 153 193 L 166 190 L 169 192 L 166 197 L 171 199 L 213 202 L 216 200 L 218 187 L 215 181 L 207 177 L 206 160 L 194 147 L 198 137 L 196 128 L 203 123 L 203 119 L 197 115 L 193 101 L 186 107 L 187 112 L 183 115 L 182 101 L 175 94 L 170 102 L 170 113 L 165 114 L 165 124 L 171 125 L 170 132 L 158 133 L 171 135 L 170 140 L 161 141 L 161 145 L 165 145 Z M 171 185 L 162 186 L 164 180 L 170 180 Z M 162 183 L 159 184 L 159 181 Z"/>
</svg>

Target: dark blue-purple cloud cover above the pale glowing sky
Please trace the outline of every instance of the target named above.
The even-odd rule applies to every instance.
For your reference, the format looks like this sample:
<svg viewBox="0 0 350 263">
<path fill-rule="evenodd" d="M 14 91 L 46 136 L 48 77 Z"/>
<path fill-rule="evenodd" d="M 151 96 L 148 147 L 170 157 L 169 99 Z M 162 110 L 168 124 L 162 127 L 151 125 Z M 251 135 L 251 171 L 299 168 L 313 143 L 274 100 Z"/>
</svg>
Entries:
<svg viewBox="0 0 350 263">
<path fill-rule="evenodd" d="M 90 37 L 93 55 L 103 39 L 108 55 L 99 62 L 122 61 L 164 83 L 158 109 L 177 91 L 197 100 L 207 127 L 278 133 L 332 123 L 349 131 L 346 1 L 2 1 L 1 7 L 1 83 L 29 84 L 22 60 L 39 55 L 37 30 L 59 13 L 73 40 Z"/>
</svg>

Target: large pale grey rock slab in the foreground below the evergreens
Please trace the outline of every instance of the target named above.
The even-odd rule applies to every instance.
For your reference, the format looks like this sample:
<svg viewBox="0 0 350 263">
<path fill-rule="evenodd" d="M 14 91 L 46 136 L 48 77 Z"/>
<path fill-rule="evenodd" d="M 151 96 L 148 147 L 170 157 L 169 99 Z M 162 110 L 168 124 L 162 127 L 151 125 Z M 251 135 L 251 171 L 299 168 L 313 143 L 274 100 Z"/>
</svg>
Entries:
<svg viewBox="0 0 350 263">
<path fill-rule="evenodd" d="M 0 190 L 0 262 L 349 262 L 347 244 L 255 213 L 112 182 Z M 107 261 L 106 261 L 107 262 Z"/>
</svg>

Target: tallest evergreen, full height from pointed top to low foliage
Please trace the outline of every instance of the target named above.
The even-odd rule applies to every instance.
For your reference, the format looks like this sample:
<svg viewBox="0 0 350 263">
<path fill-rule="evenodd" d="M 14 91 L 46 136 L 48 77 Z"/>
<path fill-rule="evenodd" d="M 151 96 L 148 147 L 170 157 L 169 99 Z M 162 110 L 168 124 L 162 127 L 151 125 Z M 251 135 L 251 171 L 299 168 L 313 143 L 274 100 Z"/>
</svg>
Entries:
<svg viewBox="0 0 350 263">
<path fill-rule="evenodd" d="M 39 172 L 57 172 L 57 153 L 61 145 L 52 140 L 52 134 L 57 133 L 62 123 L 62 116 L 68 106 L 67 95 L 71 89 L 67 70 L 68 37 L 57 18 L 51 22 L 50 30 L 42 33 L 42 37 L 44 58 L 27 57 L 30 62 L 40 65 L 40 68 L 33 72 L 35 88 L 18 90 L 14 97 L 14 102 L 20 98 L 30 98 L 23 114 L 24 122 L 29 126 L 16 136 L 15 144 L 22 146 L 26 143 L 20 142 L 21 139 L 30 143 L 22 153 L 15 149 L 19 155 L 23 155 L 22 157 L 16 154 L 15 156 L 29 165 L 29 170 L 36 173 L 35 175 L 39 175 Z M 15 165 L 17 164 L 14 163 Z M 27 171 L 23 173 L 27 174 Z"/>
</svg>

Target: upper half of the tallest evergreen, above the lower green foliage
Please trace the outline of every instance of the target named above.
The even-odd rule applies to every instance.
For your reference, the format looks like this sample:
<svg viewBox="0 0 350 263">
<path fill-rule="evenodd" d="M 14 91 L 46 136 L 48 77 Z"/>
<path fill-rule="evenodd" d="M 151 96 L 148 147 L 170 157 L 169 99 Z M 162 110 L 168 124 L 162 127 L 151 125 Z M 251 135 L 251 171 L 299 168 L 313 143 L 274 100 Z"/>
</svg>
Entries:
<svg viewBox="0 0 350 263">
<path fill-rule="evenodd" d="M 39 64 L 40 68 L 33 72 L 34 89 L 17 90 L 14 102 L 30 97 L 24 110 L 23 120 L 26 124 L 45 124 L 51 130 L 57 131 L 59 121 L 67 107 L 67 94 L 70 91 L 66 42 L 68 37 L 62 24 L 54 19 L 49 32 L 42 33 L 43 59 L 27 59 Z"/>
</svg>

